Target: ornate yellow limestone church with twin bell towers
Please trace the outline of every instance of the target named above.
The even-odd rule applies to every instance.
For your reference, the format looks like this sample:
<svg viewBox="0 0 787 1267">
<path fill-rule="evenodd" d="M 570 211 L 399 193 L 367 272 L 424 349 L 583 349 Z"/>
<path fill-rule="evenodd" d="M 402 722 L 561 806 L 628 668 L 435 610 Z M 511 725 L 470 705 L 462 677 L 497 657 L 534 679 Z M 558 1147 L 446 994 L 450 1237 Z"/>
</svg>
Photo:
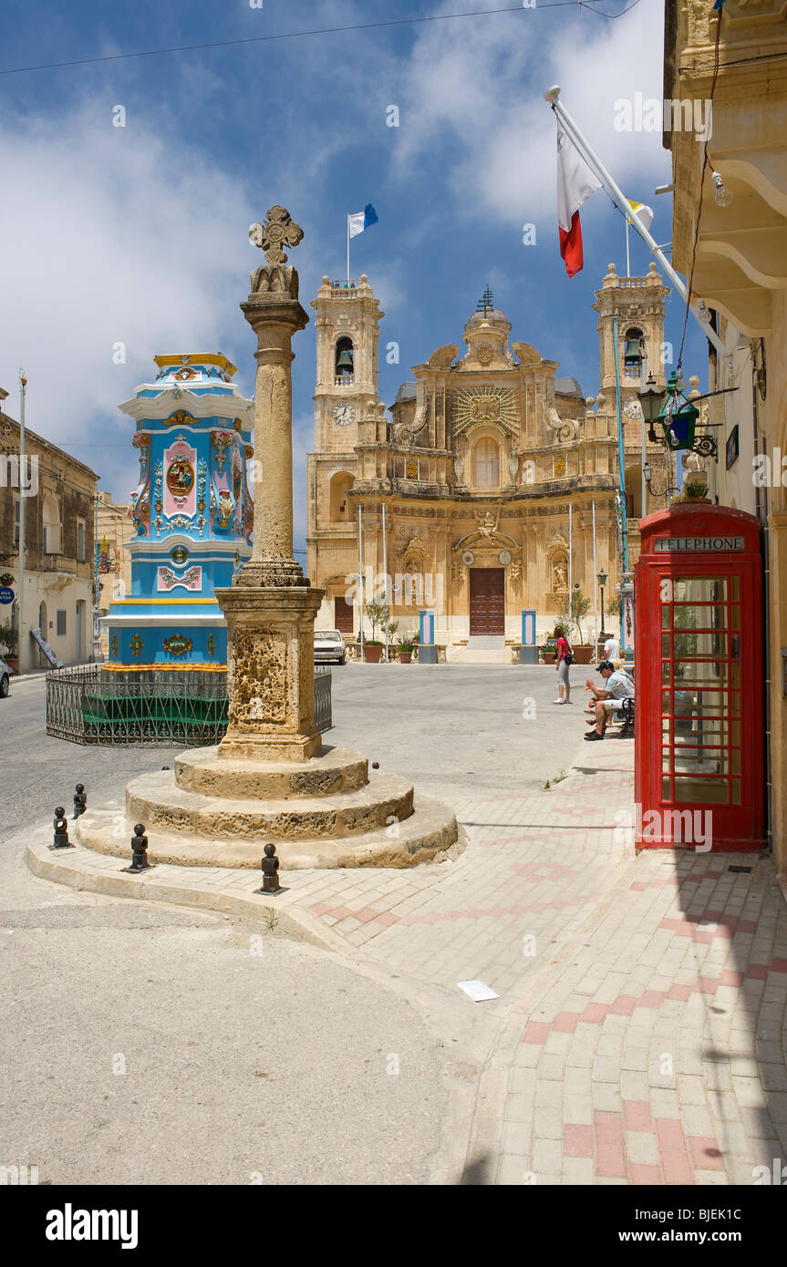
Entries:
<svg viewBox="0 0 787 1267">
<path fill-rule="evenodd" d="M 483 650 L 502 661 L 521 642 L 522 609 L 536 611 L 541 641 L 569 584 L 593 601 L 603 570 L 612 595 L 620 579 L 615 360 L 632 566 L 643 513 L 637 392 L 648 371 L 664 389 L 667 293 L 655 265 L 644 277 L 621 277 L 610 265 L 593 305 L 601 386 L 583 399 L 574 379 L 556 376 L 556 361 L 511 341 L 511 322 L 487 291 L 464 326 L 461 351 L 438 347 L 413 366 L 388 416 L 378 392 L 384 313 L 373 288 L 366 276 L 323 277 L 312 303 L 317 389 L 308 457 L 308 568 L 326 590 L 317 627 L 357 636 L 361 602 L 388 601 L 399 636 L 414 632 L 418 611 L 428 608 L 447 659 Z M 674 478 L 664 450 L 649 445 L 646 456 L 654 488 L 667 489 Z M 664 504 L 654 497 L 645 513 Z M 593 606 L 588 632 L 592 626 Z M 364 630 L 369 637 L 368 618 Z"/>
</svg>

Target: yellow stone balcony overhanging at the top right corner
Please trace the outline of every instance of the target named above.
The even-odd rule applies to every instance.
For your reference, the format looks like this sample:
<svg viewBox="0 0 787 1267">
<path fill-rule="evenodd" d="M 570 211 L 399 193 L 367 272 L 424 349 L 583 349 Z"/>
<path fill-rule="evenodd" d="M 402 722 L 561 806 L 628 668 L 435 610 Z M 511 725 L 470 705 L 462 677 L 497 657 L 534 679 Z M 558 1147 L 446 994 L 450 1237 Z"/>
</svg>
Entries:
<svg viewBox="0 0 787 1267">
<path fill-rule="evenodd" d="M 787 288 L 784 9 L 725 4 L 703 175 L 698 124 L 708 123 L 716 28 L 710 5 L 668 9 L 664 95 L 672 109 L 665 101 L 664 146 L 675 186 L 673 262 L 689 272 L 698 220 L 694 293 L 744 334 L 760 337 L 772 331 L 778 291 Z"/>
</svg>

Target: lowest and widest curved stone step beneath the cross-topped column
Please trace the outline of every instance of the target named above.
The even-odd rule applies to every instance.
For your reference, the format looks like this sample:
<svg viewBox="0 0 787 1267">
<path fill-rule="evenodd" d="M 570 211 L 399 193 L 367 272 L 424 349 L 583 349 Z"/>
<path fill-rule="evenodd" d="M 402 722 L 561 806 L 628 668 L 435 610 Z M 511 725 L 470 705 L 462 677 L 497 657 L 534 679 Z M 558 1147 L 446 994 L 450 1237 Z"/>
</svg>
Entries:
<svg viewBox="0 0 787 1267">
<path fill-rule="evenodd" d="M 134 780 L 138 782 L 138 780 Z M 113 854 L 131 862 L 131 839 L 136 818 L 127 818 L 122 806 L 87 810 L 77 818 L 75 834 L 81 845 L 96 853 Z M 262 845 L 259 840 L 208 839 L 203 835 L 171 832 L 142 820 L 148 835 L 148 862 L 175 863 L 180 867 L 259 868 Z M 455 816 L 440 801 L 416 796 L 411 816 L 387 827 L 360 835 L 295 840 L 272 839 L 281 872 L 340 867 L 416 867 L 445 862 L 466 846 L 466 836 Z"/>
</svg>

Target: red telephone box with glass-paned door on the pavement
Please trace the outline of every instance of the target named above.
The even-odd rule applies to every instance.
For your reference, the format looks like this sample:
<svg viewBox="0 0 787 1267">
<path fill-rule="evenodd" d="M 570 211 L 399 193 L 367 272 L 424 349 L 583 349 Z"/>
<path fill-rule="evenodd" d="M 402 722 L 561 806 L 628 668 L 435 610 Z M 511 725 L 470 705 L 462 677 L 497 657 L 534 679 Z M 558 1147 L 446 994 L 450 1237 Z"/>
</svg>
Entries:
<svg viewBox="0 0 787 1267">
<path fill-rule="evenodd" d="M 639 849 L 765 844 L 759 522 L 687 502 L 640 519 Z"/>
</svg>

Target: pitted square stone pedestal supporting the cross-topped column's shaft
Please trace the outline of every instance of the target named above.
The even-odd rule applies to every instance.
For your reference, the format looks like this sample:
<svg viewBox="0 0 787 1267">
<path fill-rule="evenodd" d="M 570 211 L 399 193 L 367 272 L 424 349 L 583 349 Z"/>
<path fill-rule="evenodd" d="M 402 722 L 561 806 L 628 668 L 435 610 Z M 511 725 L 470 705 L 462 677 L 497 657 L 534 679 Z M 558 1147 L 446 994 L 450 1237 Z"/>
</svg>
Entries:
<svg viewBox="0 0 787 1267">
<path fill-rule="evenodd" d="M 250 579 L 255 571 L 252 564 Z M 219 756 L 307 761 L 322 748 L 313 696 L 314 617 L 322 590 L 303 583 L 241 583 L 217 589 L 215 597 L 227 618 L 229 689 L 229 725 Z"/>
</svg>

